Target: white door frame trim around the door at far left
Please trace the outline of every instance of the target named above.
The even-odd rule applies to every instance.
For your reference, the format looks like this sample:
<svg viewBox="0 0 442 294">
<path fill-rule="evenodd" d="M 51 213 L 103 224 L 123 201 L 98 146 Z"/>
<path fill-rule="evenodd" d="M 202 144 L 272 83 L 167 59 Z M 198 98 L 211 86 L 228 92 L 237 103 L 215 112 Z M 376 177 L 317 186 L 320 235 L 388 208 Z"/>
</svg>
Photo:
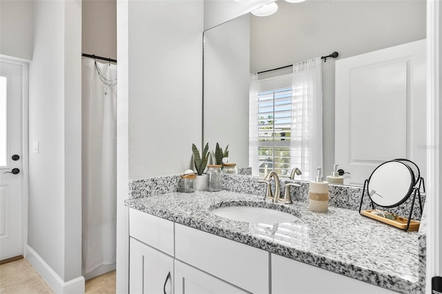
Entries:
<svg viewBox="0 0 442 294">
<path fill-rule="evenodd" d="M 21 59 L 17 57 L 11 57 L 8 55 L 0 54 L 0 60 L 2 62 L 8 62 L 10 64 L 16 64 L 21 66 L 21 159 L 23 174 L 22 194 L 21 194 L 21 237 L 24 248 L 28 244 L 28 198 L 29 198 L 29 60 Z"/>
</svg>

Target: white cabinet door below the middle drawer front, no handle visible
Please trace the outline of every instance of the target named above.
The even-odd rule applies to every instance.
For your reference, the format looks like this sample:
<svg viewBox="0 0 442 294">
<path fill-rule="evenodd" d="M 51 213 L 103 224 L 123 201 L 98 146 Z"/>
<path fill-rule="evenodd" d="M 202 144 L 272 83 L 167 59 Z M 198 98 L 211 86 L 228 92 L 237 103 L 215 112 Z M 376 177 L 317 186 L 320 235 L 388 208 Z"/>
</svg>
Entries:
<svg viewBox="0 0 442 294">
<path fill-rule="evenodd" d="M 249 293 L 175 259 L 176 294 Z"/>
</svg>

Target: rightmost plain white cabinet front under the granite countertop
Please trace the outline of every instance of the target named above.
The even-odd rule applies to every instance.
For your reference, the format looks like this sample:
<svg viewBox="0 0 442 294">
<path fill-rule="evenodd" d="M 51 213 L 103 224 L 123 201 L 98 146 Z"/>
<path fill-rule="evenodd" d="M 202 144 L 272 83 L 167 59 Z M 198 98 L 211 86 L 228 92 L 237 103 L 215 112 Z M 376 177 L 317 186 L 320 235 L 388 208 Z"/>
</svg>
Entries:
<svg viewBox="0 0 442 294">
<path fill-rule="evenodd" d="M 271 293 L 392 294 L 396 292 L 272 254 Z"/>
</svg>

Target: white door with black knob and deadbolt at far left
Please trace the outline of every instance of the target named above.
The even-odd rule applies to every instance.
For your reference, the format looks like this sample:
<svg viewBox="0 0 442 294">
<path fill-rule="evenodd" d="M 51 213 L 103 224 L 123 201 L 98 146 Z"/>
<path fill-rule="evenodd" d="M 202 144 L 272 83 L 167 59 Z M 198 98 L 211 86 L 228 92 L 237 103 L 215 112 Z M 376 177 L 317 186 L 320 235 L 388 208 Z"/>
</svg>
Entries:
<svg viewBox="0 0 442 294">
<path fill-rule="evenodd" d="M 0 60 L 0 260 L 23 255 L 23 72 Z"/>
</svg>

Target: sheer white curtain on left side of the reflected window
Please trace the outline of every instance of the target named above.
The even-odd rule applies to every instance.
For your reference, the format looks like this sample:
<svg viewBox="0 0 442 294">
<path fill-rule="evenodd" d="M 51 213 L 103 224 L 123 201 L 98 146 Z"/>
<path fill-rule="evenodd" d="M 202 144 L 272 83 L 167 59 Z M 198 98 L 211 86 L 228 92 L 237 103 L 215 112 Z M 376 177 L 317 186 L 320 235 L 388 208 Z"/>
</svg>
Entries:
<svg viewBox="0 0 442 294">
<path fill-rule="evenodd" d="M 250 75 L 249 103 L 249 165 L 252 174 L 258 174 L 258 74 Z"/>
</svg>

